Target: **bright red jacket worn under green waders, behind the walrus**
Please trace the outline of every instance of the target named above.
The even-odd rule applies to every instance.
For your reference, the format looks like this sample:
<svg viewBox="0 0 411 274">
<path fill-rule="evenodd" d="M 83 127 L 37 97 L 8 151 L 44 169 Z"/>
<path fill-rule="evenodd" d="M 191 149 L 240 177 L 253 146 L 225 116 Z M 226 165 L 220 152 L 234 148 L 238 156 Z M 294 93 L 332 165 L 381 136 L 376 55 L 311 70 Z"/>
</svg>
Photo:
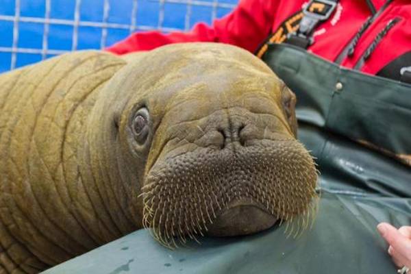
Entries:
<svg viewBox="0 0 411 274">
<path fill-rule="evenodd" d="M 314 44 L 308 51 L 327 60 L 335 61 L 358 33 L 366 19 L 373 15 L 373 9 L 380 10 L 386 0 L 340 0 L 327 21 L 316 27 Z M 145 32 L 132 34 L 125 40 L 109 47 L 113 53 L 150 50 L 173 42 L 225 42 L 237 45 L 251 52 L 256 51 L 264 39 L 288 19 L 292 29 L 292 15 L 306 5 L 304 0 L 242 0 L 238 7 L 227 16 L 214 21 L 212 27 L 198 23 L 191 32 Z M 375 12 L 374 10 L 374 12 Z M 394 18 L 398 23 L 375 41 L 384 27 Z M 281 31 L 281 29 L 280 29 Z M 277 35 L 280 41 L 282 33 Z M 285 38 L 285 36 L 283 37 Z M 278 39 L 277 39 L 278 40 Z M 378 39 L 377 39 L 378 40 Z M 372 54 L 359 68 L 364 73 L 377 74 L 384 66 L 411 51 L 411 1 L 393 0 L 384 11 L 375 16 L 373 22 L 360 36 L 353 55 L 343 58 L 342 64 L 354 68 L 358 60 L 371 44 L 375 44 Z M 411 64 L 408 64 L 411 66 Z"/>
</svg>

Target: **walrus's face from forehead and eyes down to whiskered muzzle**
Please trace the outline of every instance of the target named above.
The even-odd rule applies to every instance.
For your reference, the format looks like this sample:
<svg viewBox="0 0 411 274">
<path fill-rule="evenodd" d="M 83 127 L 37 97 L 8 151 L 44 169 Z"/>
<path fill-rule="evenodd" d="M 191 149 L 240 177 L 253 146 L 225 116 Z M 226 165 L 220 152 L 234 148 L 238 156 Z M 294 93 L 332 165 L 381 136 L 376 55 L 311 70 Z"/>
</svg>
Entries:
<svg viewBox="0 0 411 274">
<path fill-rule="evenodd" d="M 236 47 L 174 45 L 149 54 L 142 62 L 151 69 L 124 85 L 145 91 L 123 112 L 128 149 L 145 159 L 143 225 L 164 245 L 252 234 L 277 221 L 306 227 L 316 169 L 296 140 L 295 95 Z"/>
</svg>

